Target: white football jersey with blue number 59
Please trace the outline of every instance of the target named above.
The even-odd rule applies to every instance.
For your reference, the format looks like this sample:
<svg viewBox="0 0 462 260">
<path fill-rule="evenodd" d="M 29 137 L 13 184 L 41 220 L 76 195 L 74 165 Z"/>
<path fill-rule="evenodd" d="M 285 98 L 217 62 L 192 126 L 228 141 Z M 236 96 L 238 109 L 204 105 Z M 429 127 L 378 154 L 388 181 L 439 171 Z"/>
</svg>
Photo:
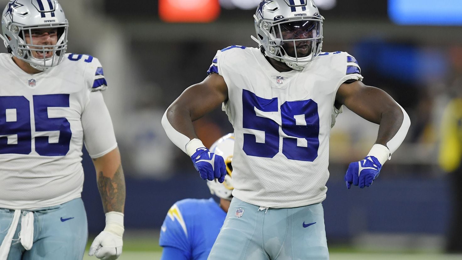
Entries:
<svg viewBox="0 0 462 260">
<path fill-rule="evenodd" d="M 217 52 L 208 73 L 228 86 L 233 196 L 271 208 L 324 200 L 335 94 L 346 80 L 363 79 L 354 57 L 325 52 L 303 70 L 279 72 L 259 49 L 235 45 Z"/>
</svg>

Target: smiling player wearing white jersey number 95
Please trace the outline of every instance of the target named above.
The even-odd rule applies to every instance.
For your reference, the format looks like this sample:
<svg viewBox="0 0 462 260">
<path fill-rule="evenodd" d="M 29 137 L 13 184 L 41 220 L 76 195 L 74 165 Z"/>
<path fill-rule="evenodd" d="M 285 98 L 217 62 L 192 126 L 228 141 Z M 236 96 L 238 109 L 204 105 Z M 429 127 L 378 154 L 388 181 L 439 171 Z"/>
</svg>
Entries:
<svg viewBox="0 0 462 260">
<path fill-rule="evenodd" d="M 1 13 L 0 260 L 81 260 L 87 219 L 82 145 L 93 159 L 106 227 L 90 255 L 122 253 L 125 181 L 99 61 L 67 54 L 56 0 L 10 0 Z"/>
</svg>

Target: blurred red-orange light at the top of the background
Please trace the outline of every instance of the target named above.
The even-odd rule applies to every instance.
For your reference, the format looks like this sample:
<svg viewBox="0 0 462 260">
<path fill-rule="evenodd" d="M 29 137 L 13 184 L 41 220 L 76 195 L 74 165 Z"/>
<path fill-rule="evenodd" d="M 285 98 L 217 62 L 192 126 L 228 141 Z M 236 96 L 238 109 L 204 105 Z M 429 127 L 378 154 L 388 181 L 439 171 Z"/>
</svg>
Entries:
<svg viewBox="0 0 462 260">
<path fill-rule="evenodd" d="M 164 22 L 209 23 L 219 14 L 219 0 L 159 0 L 159 17 Z"/>
</svg>

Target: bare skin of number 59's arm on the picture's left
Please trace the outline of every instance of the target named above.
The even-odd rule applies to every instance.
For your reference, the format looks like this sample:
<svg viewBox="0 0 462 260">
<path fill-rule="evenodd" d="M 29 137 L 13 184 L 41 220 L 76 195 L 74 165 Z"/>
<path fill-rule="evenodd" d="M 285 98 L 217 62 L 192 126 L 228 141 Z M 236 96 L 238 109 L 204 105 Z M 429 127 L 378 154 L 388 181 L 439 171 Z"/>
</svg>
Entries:
<svg viewBox="0 0 462 260">
<path fill-rule="evenodd" d="M 197 136 L 192 122 L 203 117 L 227 99 L 228 87 L 225 80 L 219 74 L 212 73 L 201 83 L 188 87 L 169 106 L 166 116 L 176 131 L 189 139 L 194 139 Z M 184 149 L 184 147 L 180 148 Z"/>
</svg>

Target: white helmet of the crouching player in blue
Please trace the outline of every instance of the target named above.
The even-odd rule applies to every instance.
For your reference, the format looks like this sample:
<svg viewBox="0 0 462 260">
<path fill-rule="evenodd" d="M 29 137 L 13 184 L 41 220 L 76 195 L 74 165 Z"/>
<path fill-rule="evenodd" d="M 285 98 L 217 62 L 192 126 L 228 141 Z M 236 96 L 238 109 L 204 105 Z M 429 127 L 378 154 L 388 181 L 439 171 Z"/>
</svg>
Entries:
<svg viewBox="0 0 462 260">
<path fill-rule="evenodd" d="M 207 186 L 212 194 L 217 195 L 220 198 L 231 200 L 232 185 L 231 173 L 232 173 L 232 155 L 234 150 L 234 134 L 227 134 L 212 144 L 209 149 L 212 153 L 220 155 L 225 159 L 226 165 L 226 176 L 223 183 L 219 183 L 217 179 L 207 180 Z"/>
</svg>

